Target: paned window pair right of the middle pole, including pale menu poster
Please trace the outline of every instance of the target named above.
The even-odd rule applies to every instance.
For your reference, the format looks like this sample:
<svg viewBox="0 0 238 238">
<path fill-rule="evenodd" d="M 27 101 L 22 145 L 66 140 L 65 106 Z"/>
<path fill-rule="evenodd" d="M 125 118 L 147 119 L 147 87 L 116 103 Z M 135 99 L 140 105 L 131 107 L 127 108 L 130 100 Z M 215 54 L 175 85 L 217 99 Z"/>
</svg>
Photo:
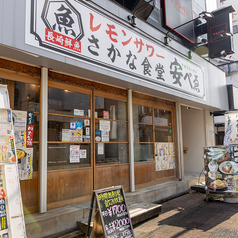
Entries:
<svg viewBox="0 0 238 238">
<path fill-rule="evenodd" d="M 175 168 L 172 109 L 133 104 L 135 162 L 156 159 L 156 170 Z"/>
</svg>

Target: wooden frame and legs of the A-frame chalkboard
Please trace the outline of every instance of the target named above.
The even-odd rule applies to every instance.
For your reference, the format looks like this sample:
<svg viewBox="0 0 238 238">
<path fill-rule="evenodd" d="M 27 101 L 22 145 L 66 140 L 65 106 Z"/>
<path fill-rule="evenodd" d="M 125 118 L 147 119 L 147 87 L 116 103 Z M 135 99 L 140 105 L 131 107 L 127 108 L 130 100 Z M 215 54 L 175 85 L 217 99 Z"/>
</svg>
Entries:
<svg viewBox="0 0 238 238">
<path fill-rule="evenodd" d="M 93 227 L 98 227 L 98 225 L 101 225 L 104 237 L 105 238 L 108 237 L 107 231 L 106 231 L 106 228 L 105 228 L 105 220 L 103 218 L 102 209 L 101 209 L 101 206 L 100 206 L 99 194 L 105 193 L 105 192 L 112 192 L 112 191 L 116 191 L 116 190 L 121 190 L 121 195 L 124 198 L 123 202 L 124 202 L 124 204 L 126 206 L 127 217 L 129 219 L 129 224 L 128 225 L 130 225 L 130 229 L 131 229 L 131 232 L 132 232 L 132 237 L 135 237 L 135 234 L 134 234 L 134 231 L 133 231 L 132 222 L 131 222 L 131 218 L 130 218 L 130 214 L 129 214 L 128 207 L 127 207 L 127 204 L 126 204 L 125 192 L 124 192 L 124 189 L 123 189 L 122 185 L 120 185 L 120 186 L 112 186 L 112 187 L 109 187 L 109 188 L 103 188 L 103 189 L 98 189 L 98 190 L 94 190 L 93 191 L 92 199 L 91 199 L 90 212 L 89 212 L 89 218 L 88 218 L 88 227 L 87 227 L 86 237 L 89 236 L 89 230 L 90 230 L 90 223 L 91 223 L 91 217 L 92 217 L 94 200 L 96 200 L 96 208 L 95 208 L 96 210 L 95 210 L 95 217 L 94 217 L 94 225 L 93 225 Z M 98 222 L 97 214 L 99 214 L 99 217 L 100 217 L 100 220 L 101 220 L 101 224 L 96 224 Z M 94 231 L 92 230 L 92 233 L 93 232 Z M 92 237 L 92 236 L 90 236 L 90 237 Z"/>
</svg>

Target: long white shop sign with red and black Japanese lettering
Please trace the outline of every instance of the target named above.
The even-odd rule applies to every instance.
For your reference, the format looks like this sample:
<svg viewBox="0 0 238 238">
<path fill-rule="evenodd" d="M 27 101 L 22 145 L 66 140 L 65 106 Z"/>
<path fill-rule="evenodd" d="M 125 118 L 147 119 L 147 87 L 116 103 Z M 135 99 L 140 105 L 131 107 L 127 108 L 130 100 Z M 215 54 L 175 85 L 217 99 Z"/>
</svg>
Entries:
<svg viewBox="0 0 238 238">
<path fill-rule="evenodd" d="M 26 2 L 27 44 L 205 99 L 202 67 L 129 23 L 79 0 Z"/>
</svg>

